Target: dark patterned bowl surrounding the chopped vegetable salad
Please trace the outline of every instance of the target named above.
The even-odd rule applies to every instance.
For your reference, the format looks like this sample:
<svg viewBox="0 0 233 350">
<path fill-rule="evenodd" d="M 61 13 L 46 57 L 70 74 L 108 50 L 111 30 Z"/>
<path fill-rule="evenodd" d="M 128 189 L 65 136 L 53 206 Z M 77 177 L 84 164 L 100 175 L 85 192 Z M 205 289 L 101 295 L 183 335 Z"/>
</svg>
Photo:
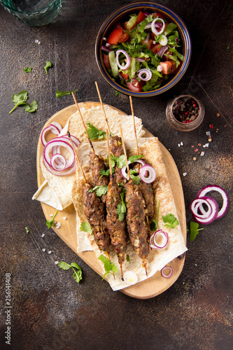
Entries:
<svg viewBox="0 0 233 350">
<path fill-rule="evenodd" d="M 181 53 L 184 57 L 183 62 L 178 69 L 177 73 L 174 74 L 170 79 L 167 80 L 167 83 L 157 88 L 156 90 L 151 90 L 147 92 L 135 92 L 127 89 L 127 87 L 123 87 L 118 84 L 111 78 L 104 65 L 104 55 L 103 50 L 101 49 L 102 45 L 104 45 L 104 38 L 107 38 L 111 33 L 111 30 L 118 22 L 125 22 L 125 20 L 129 19 L 129 15 L 133 13 L 139 13 L 139 11 L 148 11 L 148 12 L 157 12 L 164 16 L 169 22 L 173 22 L 177 26 L 177 30 L 179 33 L 179 37 L 181 38 Z M 99 29 L 99 33 L 97 35 L 97 40 L 95 44 L 95 57 L 97 60 L 97 65 L 99 67 L 99 71 L 101 72 L 104 79 L 115 89 L 123 94 L 129 94 L 135 97 L 150 97 L 155 96 L 157 94 L 162 94 L 171 87 L 173 87 L 178 81 L 183 77 L 188 65 L 190 63 L 191 57 L 191 40 L 188 29 L 183 22 L 183 20 L 174 13 L 173 10 L 167 8 L 166 6 L 161 5 L 160 3 L 154 3 L 150 1 L 140 1 L 136 3 L 129 3 L 125 6 L 122 6 L 118 10 L 115 10 L 106 20 L 103 25 Z"/>
</svg>

